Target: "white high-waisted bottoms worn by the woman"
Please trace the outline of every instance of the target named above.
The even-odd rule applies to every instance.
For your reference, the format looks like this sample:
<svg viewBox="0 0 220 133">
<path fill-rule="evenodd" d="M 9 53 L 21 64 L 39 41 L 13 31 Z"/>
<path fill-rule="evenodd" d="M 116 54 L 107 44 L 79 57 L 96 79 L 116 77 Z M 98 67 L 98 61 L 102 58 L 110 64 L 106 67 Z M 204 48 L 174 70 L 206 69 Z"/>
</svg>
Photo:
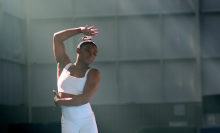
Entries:
<svg viewBox="0 0 220 133">
<path fill-rule="evenodd" d="M 90 104 L 78 107 L 62 106 L 62 133 L 98 133 Z"/>
</svg>

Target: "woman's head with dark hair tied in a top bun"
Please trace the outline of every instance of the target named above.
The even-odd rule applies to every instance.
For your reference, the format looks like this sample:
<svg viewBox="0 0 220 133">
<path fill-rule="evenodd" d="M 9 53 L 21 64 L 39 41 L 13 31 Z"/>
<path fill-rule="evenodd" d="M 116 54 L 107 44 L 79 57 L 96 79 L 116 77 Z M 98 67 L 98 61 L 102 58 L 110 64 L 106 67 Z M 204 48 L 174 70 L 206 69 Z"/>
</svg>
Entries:
<svg viewBox="0 0 220 133">
<path fill-rule="evenodd" d="M 92 41 L 92 37 L 84 36 L 82 42 L 77 46 L 78 60 L 86 64 L 91 64 L 97 55 L 97 46 Z"/>
</svg>

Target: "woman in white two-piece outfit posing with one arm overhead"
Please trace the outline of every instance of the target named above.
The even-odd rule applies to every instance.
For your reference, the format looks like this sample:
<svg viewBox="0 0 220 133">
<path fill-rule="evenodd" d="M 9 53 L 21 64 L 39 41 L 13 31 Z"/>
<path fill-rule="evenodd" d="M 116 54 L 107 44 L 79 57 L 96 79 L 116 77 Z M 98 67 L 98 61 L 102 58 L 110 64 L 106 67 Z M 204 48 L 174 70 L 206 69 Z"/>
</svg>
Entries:
<svg viewBox="0 0 220 133">
<path fill-rule="evenodd" d="M 100 73 L 89 65 L 95 60 L 97 47 L 90 37 L 84 37 L 77 47 L 77 58 L 71 63 L 65 53 L 64 41 L 83 33 L 96 36 L 94 26 L 67 29 L 54 34 L 53 49 L 57 61 L 58 93 L 53 90 L 56 107 L 62 107 L 62 133 L 98 133 L 95 116 L 89 104 L 98 89 Z M 55 108 L 56 108 L 55 107 Z"/>
</svg>

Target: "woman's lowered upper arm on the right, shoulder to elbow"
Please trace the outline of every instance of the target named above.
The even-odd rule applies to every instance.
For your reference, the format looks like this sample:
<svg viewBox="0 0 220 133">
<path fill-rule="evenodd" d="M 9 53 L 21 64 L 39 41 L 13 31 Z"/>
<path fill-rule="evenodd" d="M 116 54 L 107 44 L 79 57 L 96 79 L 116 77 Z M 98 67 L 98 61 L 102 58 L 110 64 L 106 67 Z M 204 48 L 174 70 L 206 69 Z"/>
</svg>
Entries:
<svg viewBox="0 0 220 133">
<path fill-rule="evenodd" d="M 84 86 L 83 95 L 85 96 L 85 100 L 87 102 L 90 101 L 92 96 L 98 89 L 99 81 L 101 78 L 101 74 L 97 69 L 91 69 L 87 76 L 87 81 Z"/>
</svg>

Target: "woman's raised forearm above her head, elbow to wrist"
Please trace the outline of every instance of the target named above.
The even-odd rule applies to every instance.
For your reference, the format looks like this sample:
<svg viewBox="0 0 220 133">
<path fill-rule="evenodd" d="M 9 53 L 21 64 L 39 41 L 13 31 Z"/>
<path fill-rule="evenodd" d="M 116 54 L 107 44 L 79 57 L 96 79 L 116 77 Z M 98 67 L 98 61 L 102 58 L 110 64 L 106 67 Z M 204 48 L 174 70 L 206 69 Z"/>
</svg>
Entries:
<svg viewBox="0 0 220 133">
<path fill-rule="evenodd" d="M 82 33 L 80 27 L 79 28 L 66 29 L 66 30 L 56 32 L 54 34 L 54 39 L 57 40 L 57 41 L 63 42 L 65 40 L 67 40 L 68 38 L 70 38 L 74 35 L 77 35 L 79 33 Z"/>
</svg>

